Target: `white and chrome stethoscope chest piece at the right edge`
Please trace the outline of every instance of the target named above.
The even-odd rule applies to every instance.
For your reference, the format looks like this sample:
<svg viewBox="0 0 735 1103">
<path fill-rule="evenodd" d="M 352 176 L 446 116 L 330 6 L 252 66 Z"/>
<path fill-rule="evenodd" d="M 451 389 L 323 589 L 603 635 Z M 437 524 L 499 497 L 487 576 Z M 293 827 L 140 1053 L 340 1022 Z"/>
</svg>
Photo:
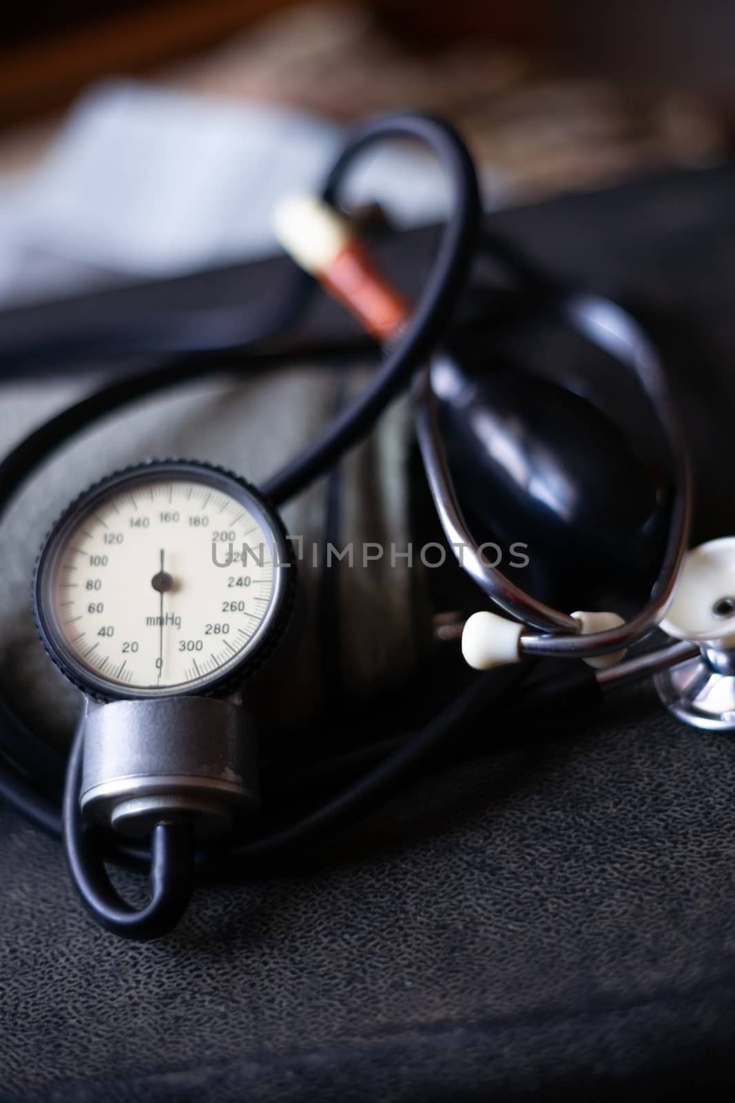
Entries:
<svg viewBox="0 0 735 1103">
<path fill-rule="evenodd" d="M 735 537 L 688 553 L 661 628 L 700 649 L 655 676 L 662 703 L 695 728 L 735 730 Z"/>
</svg>

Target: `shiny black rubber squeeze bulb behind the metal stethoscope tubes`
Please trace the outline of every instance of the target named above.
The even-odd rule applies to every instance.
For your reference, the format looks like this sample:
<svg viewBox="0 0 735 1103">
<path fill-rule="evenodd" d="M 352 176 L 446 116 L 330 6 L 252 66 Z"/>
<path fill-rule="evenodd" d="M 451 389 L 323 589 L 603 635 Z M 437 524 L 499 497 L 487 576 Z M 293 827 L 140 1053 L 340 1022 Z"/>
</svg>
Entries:
<svg viewBox="0 0 735 1103">
<path fill-rule="evenodd" d="M 468 523 L 528 545 L 529 575 L 515 580 L 577 609 L 645 592 L 660 558 L 660 486 L 613 421 L 563 386 L 451 350 L 432 386 Z"/>
</svg>

